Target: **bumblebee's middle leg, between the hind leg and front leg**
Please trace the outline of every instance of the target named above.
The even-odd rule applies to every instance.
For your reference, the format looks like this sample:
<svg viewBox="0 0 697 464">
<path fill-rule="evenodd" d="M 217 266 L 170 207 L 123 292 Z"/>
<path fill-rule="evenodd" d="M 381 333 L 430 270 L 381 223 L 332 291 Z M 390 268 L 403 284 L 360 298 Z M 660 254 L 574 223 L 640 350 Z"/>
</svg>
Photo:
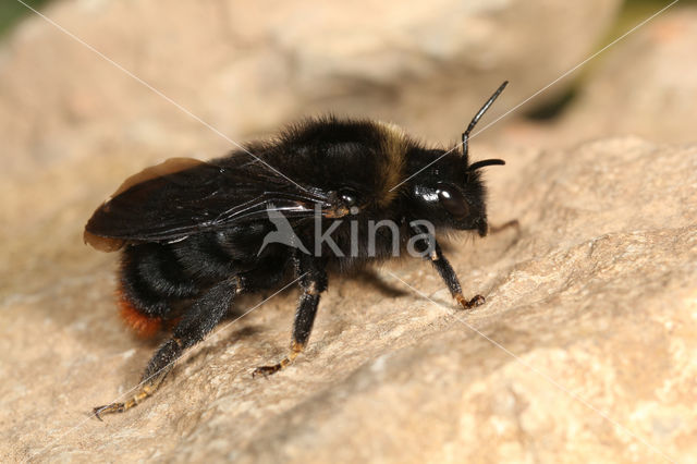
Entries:
<svg viewBox="0 0 697 464">
<path fill-rule="evenodd" d="M 299 255 L 295 259 L 295 272 L 301 277 L 299 283 L 303 289 L 295 320 L 293 322 L 293 335 L 289 354 L 279 363 L 270 366 L 259 366 L 252 373 L 252 377 L 270 376 L 291 364 L 307 345 L 307 340 L 313 330 L 317 306 L 319 305 L 320 293 L 327 290 L 327 272 L 325 264 L 311 256 Z"/>
</svg>

